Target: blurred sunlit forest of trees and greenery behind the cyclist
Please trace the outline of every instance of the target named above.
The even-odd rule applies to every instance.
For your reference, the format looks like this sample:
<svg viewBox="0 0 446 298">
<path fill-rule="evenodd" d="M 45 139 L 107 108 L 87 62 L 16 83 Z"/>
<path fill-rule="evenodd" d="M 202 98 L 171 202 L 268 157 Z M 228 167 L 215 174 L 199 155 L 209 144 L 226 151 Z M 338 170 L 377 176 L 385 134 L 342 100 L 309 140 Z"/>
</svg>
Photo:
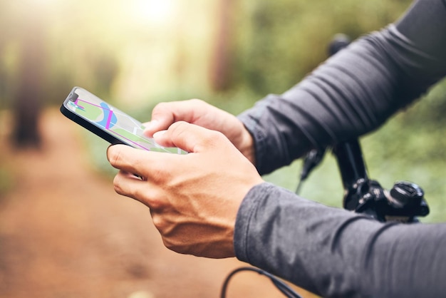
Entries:
<svg viewBox="0 0 446 298">
<path fill-rule="evenodd" d="M 398 19 L 409 0 L 23 0 L 0 3 L 0 117 L 18 149 L 38 144 L 38 115 L 81 86 L 142 121 L 156 103 L 201 98 L 234 114 L 282 93 L 327 58 L 335 34 L 352 39 Z M 361 139 L 370 177 L 418 183 L 445 220 L 446 85 Z M 28 119 L 28 122 L 26 121 Z M 61 120 L 66 120 L 62 119 Z M 74 125 L 74 124 L 73 124 Z M 81 128 L 79 128 L 81 130 Z M 113 175 L 107 144 L 85 132 L 91 162 Z M 301 161 L 265 179 L 294 190 Z M 0 165 L 0 192 L 11 183 Z M 341 206 L 327 155 L 302 195 Z"/>
</svg>

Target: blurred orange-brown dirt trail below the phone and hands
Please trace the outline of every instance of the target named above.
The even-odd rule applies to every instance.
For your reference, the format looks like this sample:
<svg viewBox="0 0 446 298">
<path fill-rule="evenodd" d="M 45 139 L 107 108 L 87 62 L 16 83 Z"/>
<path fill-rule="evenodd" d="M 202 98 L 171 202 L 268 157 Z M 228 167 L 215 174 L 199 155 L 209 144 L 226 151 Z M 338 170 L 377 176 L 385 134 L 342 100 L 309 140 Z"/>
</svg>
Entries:
<svg viewBox="0 0 446 298">
<path fill-rule="evenodd" d="M 14 170 L 0 193 L 0 297 L 219 297 L 224 277 L 246 265 L 167 250 L 149 210 L 88 167 L 80 130 L 58 111 L 43 115 L 39 151 L 13 152 L 3 118 L 0 163 Z M 241 273 L 228 297 L 283 296 Z"/>
</svg>

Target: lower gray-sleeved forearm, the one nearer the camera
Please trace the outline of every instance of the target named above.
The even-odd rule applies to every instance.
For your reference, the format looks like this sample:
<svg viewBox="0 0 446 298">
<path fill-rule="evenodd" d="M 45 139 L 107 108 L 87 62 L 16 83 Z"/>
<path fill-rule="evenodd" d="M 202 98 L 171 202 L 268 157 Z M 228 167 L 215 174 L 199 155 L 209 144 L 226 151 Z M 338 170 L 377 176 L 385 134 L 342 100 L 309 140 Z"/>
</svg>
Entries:
<svg viewBox="0 0 446 298">
<path fill-rule="evenodd" d="M 323 297 L 440 297 L 446 225 L 382 224 L 268 183 L 237 215 L 237 257 Z M 420 276 L 422 274 L 422 276 Z"/>
</svg>

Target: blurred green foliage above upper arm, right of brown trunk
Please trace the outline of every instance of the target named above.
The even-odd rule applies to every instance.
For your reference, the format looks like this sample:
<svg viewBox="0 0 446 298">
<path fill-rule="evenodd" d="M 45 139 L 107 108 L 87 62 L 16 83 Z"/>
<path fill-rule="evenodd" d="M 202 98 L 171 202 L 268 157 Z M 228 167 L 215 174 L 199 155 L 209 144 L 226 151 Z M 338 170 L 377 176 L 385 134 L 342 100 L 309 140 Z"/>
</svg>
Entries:
<svg viewBox="0 0 446 298">
<path fill-rule="evenodd" d="M 335 34 L 357 38 L 398 19 L 410 1 L 242 1 L 238 14 L 240 86 L 259 95 L 281 93 L 327 56 Z"/>
</svg>

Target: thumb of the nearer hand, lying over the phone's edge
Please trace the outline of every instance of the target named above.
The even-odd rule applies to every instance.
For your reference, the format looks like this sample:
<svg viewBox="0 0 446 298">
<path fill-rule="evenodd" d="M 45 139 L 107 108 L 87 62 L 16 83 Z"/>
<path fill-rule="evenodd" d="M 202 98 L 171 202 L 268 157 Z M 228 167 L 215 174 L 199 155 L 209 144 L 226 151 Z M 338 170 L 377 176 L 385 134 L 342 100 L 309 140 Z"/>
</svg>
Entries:
<svg viewBox="0 0 446 298">
<path fill-rule="evenodd" d="M 222 133 L 184 121 L 173 123 L 168 130 L 155 133 L 153 137 L 162 146 L 177 147 L 190 153 L 214 148 L 226 139 Z"/>
</svg>

